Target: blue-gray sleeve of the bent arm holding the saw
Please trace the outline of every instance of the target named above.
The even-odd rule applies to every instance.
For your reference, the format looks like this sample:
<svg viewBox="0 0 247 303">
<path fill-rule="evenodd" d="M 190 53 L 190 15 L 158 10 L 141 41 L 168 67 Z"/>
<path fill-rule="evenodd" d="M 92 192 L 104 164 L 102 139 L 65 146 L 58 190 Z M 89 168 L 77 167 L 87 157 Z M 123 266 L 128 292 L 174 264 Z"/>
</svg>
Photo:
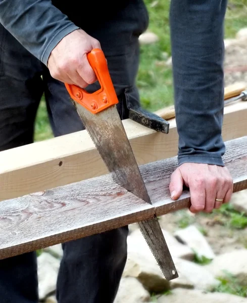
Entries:
<svg viewBox="0 0 247 303">
<path fill-rule="evenodd" d="M 51 0 L 0 0 L 0 22 L 45 65 L 58 42 L 78 29 Z"/>
</svg>

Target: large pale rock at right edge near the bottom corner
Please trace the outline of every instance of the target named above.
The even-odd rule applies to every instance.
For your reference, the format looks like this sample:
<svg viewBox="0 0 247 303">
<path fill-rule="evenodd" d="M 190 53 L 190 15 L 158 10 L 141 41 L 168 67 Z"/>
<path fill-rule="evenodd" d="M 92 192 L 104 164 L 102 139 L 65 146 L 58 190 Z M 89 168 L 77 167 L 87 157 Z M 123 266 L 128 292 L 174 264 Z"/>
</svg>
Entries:
<svg viewBox="0 0 247 303">
<path fill-rule="evenodd" d="M 237 278 L 239 283 L 247 285 L 247 249 L 219 255 L 206 268 L 215 277 L 224 277 L 228 272 Z"/>
</svg>

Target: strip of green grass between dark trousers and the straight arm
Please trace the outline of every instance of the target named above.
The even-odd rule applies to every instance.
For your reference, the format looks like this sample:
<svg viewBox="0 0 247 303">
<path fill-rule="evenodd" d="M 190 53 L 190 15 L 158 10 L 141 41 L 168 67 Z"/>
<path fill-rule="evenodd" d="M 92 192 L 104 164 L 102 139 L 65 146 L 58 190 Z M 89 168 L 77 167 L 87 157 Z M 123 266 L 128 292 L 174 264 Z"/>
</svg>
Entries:
<svg viewBox="0 0 247 303">
<path fill-rule="evenodd" d="M 169 1 L 162 0 L 152 7 L 153 1 L 145 0 L 150 15 L 149 30 L 158 35 L 159 41 L 141 46 L 137 87 L 141 105 L 151 111 L 173 103 L 172 71 L 164 64 L 171 56 L 169 29 Z"/>
</svg>

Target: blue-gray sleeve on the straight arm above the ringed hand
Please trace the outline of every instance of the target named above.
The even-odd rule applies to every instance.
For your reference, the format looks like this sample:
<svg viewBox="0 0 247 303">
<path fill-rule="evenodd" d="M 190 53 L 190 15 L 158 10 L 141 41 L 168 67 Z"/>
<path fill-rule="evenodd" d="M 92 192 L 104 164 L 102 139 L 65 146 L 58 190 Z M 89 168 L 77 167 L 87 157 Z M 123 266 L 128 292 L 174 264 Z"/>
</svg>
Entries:
<svg viewBox="0 0 247 303">
<path fill-rule="evenodd" d="M 227 0 L 171 0 L 178 165 L 224 166 L 224 16 Z"/>
</svg>

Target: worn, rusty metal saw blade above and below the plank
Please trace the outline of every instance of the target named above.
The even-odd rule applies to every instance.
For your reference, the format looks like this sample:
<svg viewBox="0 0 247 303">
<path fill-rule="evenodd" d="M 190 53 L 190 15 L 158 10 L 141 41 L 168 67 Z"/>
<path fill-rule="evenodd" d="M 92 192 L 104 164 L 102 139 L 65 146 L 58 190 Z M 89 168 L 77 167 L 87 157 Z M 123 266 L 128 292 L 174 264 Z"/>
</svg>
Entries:
<svg viewBox="0 0 247 303">
<path fill-rule="evenodd" d="M 84 125 L 87 133 L 89 134 L 89 137 L 91 138 L 91 140 L 94 142 L 94 145 L 98 151 L 98 153 L 101 155 L 101 158 L 102 160 L 105 162 L 108 170 L 109 170 L 109 173 L 112 173 L 115 169 L 115 166 L 116 166 L 116 161 L 118 161 L 118 155 L 117 154 L 114 154 L 114 148 L 113 146 L 111 145 L 110 146 L 110 149 L 111 151 L 113 152 L 113 159 L 115 160 L 115 162 L 113 161 L 113 164 L 115 164 L 114 166 L 110 165 L 109 163 L 106 163 L 105 159 L 104 159 L 104 155 L 108 155 L 107 154 L 107 151 L 109 150 L 106 150 L 106 147 L 101 150 L 100 149 L 100 146 L 102 146 L 102 137 L 98 137 L 96 135 L 96 138 L 93 139 L 93 136 L 91 135 L 91 132 L 94 133 L 95 130 L 97 129 L 98 131 L 101 131 L 102 128 L 99 126 L 99 123 L 103 123 L 106 124 L 108 121 L 108 119 L 110 118 L 111 114 L 113 113 L 113 121 L 110 121 L 110 125 L 108 125 L 108 129 L 104 130 L 103 132 L 103 136 L 105 135 L 106 136 L 106 131 L 109 130 L 110 131 L 110 134 L 111 134 L 111 139 L 116 139 L 117 140 L 117 137 L 116 137 L 116 134 L 115 132 L 112 131 L 112 128 L 111 127 L 118 127 L 120 128 L 120 135 L 122 135 L 124 137 L 124 140 L 127 140 L 126 139 L 126 133 L 124 132 L 124 129 L 123 126 L 119 127 L 120 125 L 118 125 L 119 121 L 120 121 L 120 117 L 119 117 L 119 114 L 117 112 L 117 109 L 116 109 L 116 106 L 115 108 L 112 108 L 110 110 L 110 112 L 107 112 L 106 115 L 100 113 L 100 118 L 99 120 L 95 120 L 94 116 L 91 116 L 92 114 L 89 113 L 86 109 L 84 109 L 83 107 L 81 107 L 80 105 L 77 105 L 76 104 L 76 109 L 77 109 L 77 113 L 81 119 L 81 122 L 82 124 Z M 91 127 L 91 131 L 88 131 L 86 125 L 89 125 L 89 127 Z M 94 129 L 93 129 L 94 127 Z M 95 133 L 94 133 L 95 134 Z M 116 141 L 117 142 L 117 141 Z M 113 143 L 115 143 L 115 141 L 113 140 Z M 126 157 L 128 156 L 128 153 L 132 153 L 131 151 L 131 146 L 129 144 L 129 142 L 124 142 L 124 144 L 126 143 L 126 150 L 127 152 L 125 153 Z M 105 145 L 103 145 L 105 146 Z M 118 146 L 118 147 L 123 147 L 121 146 L 121 144 Z M 138 170 L 138 165 L 136 163 L 136 160 L 134 159 L 134 155 L 130 155 L 131 157 L 131 161 L 133 161 L 133 164 L 136 166 L 136 170 Z M 126 158 L 125 157 L 125 158 Z M 124 158 L 124 159 L 125 159 Z M 128 159 L 128 158 L 127 158 Z M 125 169 L 125 166 L 126 166 L 126 163 L 123 163 L 123 169 Z M 121 167 L 120 167 L 121 168 Z M 136 193 L 134 192 L 135 190 L 135 187 L 133 187 L 132 183 L 133 183 L 133 178 L 130 179 L 126 179 L 124 181 L 125 182 L 125 185 L 126 186 L 123 186 L 124 188 L 127 189 L 127 187 L 130 185 L 130 183 L 132 184 L 130 186 L 130 188 L 133 190 L 132 194 L 135 194 L 137 197 L 141 198 L 142 200 L 144 201 L 147 201 L 148 203 L 150 203 L 152 205 L 152 202 L 150 200 L 150 197 L 149 197 L 149 194 L 147 193 L 146 191 L 146 188 L 145 188 L 145 185 L 144 185 L 144 182 L 143 180 L 140 178 L 141 176 L 139 175 L 139 171 L 135 171 L 135 170 L 128 170 L 128 172 L 131 171 L 132 175 L 135 177 L 137 176 L 137 183 L 134 182 L 134 184 L 137 184 L 138 186 L 140 186 L 140 190 L 139 191 L 136 191 Z M 121 176 L 122 177 L 122 176 Z M 125 177 L 125 175 L 124 175 Z M 116 181 L 116 183 L 118 183 Z M 118 183 L 119 185 L 122 183 L 122 178 L 120 178 L 120 182 Z M 128 189 L 127 189 L 128 190 Z M 131 191 L 130 191 L 131 192 Z M 140 230 L 141 230 L 141 233 L 147 243 L 147 245 L 149 246 L 158 266 L 160 267 L 164 277 L 166 278 L 166 280 L 171 280 L 171 279 L 174 279 L 177 277 L 177 271 L 176 271 L 176 268 L 173 264 L 173 261 L 172 261 L 172 258 L 171 258 L 171 255 L 170 255 L 170 251 L 167 247 L 167 244 L 166 244 L 166 241 L 164 239 L 164 235 L 162 233 L 162 230 L 161 230 L 161 227 L 160 227 L 160 224 L 158 222 L 158 219 L 157 217 L 155 216 L 153 219 L 151 220 L 143 220 L 141 222 L 139 222 L 139 226 L 140 226 Z M 146 231 L 144 233 L 144 231 Z M 157 249 L 156 249 L 157 248 Z M 156 257 L 157 256 L 157 257 Z M 166 277 L 167 276 L 167 277 Z"/>
</svg>

